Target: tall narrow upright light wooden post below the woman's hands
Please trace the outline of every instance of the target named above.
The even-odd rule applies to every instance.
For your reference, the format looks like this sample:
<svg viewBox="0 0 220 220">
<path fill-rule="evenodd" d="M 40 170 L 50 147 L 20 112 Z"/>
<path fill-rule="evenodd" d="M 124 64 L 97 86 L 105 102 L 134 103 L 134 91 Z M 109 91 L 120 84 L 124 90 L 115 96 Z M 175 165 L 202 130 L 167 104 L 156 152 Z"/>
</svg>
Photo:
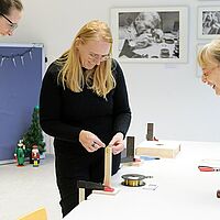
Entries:
<svg viewBox="0 0 220 220">
<path fill-rule="evenodd" d="M 107 146 L 105 148 L 105 178 L 103 185 L 111 187 L 111 164 L 112 164 L 112 148 Z"/>
</svg>

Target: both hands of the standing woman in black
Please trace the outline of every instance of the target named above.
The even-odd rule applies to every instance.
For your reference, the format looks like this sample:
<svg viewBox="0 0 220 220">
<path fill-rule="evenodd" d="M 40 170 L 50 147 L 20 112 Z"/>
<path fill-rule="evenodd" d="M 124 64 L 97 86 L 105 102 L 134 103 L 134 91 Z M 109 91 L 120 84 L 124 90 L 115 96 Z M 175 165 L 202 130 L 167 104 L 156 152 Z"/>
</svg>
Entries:
<svg viewBox="0 0 220 220">
<path fill-rule="evenodd" d="M 79 133 L 79 142 L 90 153 L 100 147 L 106 147 L 106 144 L 96 134 L 85 130 L 81 130 Z M 118 132 L 109 142 L 109 145 L 112 147 L 114 155 L 122 152 L 124 150 L 123 134 Z"/>
</svg>

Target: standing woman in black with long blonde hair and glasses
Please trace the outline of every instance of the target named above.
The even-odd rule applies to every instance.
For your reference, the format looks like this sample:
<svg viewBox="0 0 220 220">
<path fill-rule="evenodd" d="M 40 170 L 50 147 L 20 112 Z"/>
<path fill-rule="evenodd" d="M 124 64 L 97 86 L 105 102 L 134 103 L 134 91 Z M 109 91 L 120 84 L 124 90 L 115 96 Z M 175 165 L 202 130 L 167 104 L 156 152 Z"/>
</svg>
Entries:
<svg viewBox="0 0 220 220">
<path fill-rule="evenodd" d="M 123 72 L 111 52 L 109 26 L 91 21 L 43 79 L 40 121 L 55 138 L 63 216 L 78 205 L 77 180 L 103 182 L 105 146 L 112 147 L 112 174 L 119 169 L 131 110 Z"/>
</svg>

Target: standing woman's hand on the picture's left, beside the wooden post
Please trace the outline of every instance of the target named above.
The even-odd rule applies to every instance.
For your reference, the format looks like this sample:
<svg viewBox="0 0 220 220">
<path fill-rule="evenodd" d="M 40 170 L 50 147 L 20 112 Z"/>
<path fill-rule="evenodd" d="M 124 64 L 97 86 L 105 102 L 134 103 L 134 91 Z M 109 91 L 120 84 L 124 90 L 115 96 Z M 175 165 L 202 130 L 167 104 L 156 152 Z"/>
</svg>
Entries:
<svg viewBox="0 0 220 220">
<path fill-rule="evenodd" d="M 81 130 L 79 133 L 79 142 L 88 152 L 95 152 L 98 148 L 106 146 L 96 134 L 85 130 Z"/>
</svg>

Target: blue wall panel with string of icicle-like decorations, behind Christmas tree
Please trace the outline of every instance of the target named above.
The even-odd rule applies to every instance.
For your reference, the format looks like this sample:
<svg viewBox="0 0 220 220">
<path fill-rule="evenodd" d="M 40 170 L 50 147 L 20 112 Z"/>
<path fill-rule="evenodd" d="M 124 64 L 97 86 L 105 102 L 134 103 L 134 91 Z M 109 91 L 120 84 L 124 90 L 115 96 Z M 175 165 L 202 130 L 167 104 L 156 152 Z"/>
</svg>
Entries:
<svg viewBox="0 0 220 220">
<path fill-rule="evenodd" d="M 13 158 L 16 143 L 28 131 L 38 105 L 42 50 L 0 45 L 0 161 Z"/>
</svg>

